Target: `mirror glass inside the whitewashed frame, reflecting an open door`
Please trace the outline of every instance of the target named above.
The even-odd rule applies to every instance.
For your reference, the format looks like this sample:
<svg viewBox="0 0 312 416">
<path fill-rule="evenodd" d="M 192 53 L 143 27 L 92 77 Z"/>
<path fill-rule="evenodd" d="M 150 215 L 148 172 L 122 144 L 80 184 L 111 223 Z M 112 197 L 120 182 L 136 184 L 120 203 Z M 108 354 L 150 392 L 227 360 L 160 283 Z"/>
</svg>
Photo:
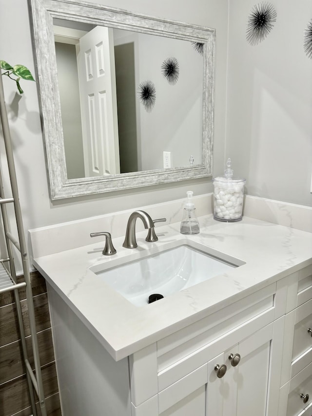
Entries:
<svg viewBox="0 0 312 416">
<path fill-rule="evenodd" d="M 204 64 L 194 42 L 53 26 L 68 179 L 203 163 Z"/>
</svg>

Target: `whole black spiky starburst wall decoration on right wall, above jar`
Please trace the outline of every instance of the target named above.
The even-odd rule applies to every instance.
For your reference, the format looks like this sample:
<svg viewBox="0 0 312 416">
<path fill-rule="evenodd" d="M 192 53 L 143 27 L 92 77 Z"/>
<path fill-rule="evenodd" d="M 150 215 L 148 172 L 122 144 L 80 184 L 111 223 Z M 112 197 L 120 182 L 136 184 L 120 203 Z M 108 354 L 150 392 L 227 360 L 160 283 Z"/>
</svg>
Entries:
<svg viewBox="0 0 312 416">
<path fill-rule="evenodd" d="M 251 45 L 262 42 L 273 28 L 276 11 L 272 4 L 263 2 L 254 5 L 247 18 L 246 39 Z"/>
</svg>

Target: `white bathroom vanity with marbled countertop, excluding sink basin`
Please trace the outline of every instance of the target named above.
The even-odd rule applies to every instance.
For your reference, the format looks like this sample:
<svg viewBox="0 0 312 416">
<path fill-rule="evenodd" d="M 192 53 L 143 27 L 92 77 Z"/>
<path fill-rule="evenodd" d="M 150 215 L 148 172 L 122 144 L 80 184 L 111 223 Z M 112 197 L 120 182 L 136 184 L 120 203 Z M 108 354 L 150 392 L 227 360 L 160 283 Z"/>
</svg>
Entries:
<svg viewBox="0 0 312 416">
<path fill-rule="evenodd" d="M 30 231 L 63 415 L 311 415 L 312 233 L 247 216 L 219 222 L 206 209 L 200 234 L 186 237 L 182 203 L 144 209 L 168 221 L 153 243 L 138 229 L 136 249 L 122 247 L 131 211 Z M 88 240 L 100 229 L 116 255 Z M 97 272 L 181 245 L 237 267 L 141 306 Z"/>
</svg>

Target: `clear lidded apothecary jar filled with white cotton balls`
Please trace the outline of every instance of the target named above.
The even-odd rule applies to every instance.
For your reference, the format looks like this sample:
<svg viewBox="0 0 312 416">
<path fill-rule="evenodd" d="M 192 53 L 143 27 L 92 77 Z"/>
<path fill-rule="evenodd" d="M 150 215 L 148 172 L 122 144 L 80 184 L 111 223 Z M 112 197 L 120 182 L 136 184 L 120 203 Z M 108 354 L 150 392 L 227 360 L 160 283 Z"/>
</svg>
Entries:
<svg viewBox="0 0 312 416">
<path fill-rule="evenodd" d="M 224 176 L 213 178 L 214 218 L 218 221 L 240 221 L 243 218 L 244 186 L 246 179 L 233 178 L 228 158 Z"/>
</svg>

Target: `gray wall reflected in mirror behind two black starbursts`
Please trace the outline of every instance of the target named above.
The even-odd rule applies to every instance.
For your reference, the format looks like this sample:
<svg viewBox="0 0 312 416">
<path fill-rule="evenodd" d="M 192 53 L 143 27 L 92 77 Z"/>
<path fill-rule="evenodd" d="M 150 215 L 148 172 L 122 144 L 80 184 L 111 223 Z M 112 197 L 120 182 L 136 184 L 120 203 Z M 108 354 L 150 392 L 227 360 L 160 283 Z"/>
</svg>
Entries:
<svg viewBox="0 0 312 416">
<path fill-rule="evenodd" d="M 139 106 L 142 170 L 162 168 L 163 151 L 171 152 L 172 167 L 188 166 L 191 155 L 201 163 L 203 57 L 191 42 L 152 35 L 140 36 L 138 48 L 145 58 L 139 59 L 138 83 L 150 79 L 156 88 L 153 110 Z M 160 70 L 169 57 L 179 64 L 175 85 Z"/>
</svg>

